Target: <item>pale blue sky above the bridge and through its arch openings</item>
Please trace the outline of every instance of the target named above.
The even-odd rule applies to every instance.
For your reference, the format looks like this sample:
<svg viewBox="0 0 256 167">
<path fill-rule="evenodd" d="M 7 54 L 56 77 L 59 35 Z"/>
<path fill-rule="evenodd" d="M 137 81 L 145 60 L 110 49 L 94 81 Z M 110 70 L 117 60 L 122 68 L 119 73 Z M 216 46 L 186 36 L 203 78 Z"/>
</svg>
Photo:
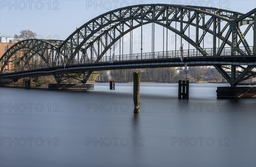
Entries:
<svg viewBox="0 0 256 167">
<path fill-rule="evenodd" d="M 19 34 L 20 30 L 29 29 L 37 33 L 38 39 L 65 40 L 76 30 L 76 27 L 105 12 L 125 6 L 151 3 L 207 6 L 241 13 L 247 13 L 256 8 L 255 0 L 0 0 L 0 35 L 12 37 L 14 34 Z M 156 29 L 155 52 L 166 51 L 166 48 L 163 49 L 163 28 Z M 247 34 L 249 45 L 253 42 L 250 38 L 251 33 Z M 141 41 L 140 29 L 135 29 L 133 35 L 133 53 L 140 53 L 141 46 L 138 44 Z M 125 37 L 125 41 L 124 54 L 128 54 L 129 35 Z M 180 38 L 177 37 L 176 41 L 180 43 Z M 167 50 L 175 50 L 175 35 L 171 32 L 169 32 L 168 43 Z M 143 52 L 151 52 L 151 47 L 148 46 L 151 46 L 150 25 L 143 28 Z M 115 50 L 119 52 L 117 47 L 119 48 L 118 43 Z M 177 44 L 176 49 L 179 48 L 180 44 Z M 189 45 L 186 42 L 184 49 L 188 48 Z M 212 48 L 212 35 L 205 40 L 204 48 Z"/>
</svg>

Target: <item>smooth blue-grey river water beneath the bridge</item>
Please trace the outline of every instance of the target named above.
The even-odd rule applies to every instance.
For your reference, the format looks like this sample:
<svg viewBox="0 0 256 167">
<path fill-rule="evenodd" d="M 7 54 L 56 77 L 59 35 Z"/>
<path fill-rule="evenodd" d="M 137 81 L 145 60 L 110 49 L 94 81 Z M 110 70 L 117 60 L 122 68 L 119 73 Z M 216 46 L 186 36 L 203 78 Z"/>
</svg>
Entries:
<svg viewBox="0 0 256 167">
<path fill-rule="evenodd" d="M 217 86 L 94 90 L 0 88 L 0 166 L 256 166 L 256 99 L 216 98 Z"/>
</svg>

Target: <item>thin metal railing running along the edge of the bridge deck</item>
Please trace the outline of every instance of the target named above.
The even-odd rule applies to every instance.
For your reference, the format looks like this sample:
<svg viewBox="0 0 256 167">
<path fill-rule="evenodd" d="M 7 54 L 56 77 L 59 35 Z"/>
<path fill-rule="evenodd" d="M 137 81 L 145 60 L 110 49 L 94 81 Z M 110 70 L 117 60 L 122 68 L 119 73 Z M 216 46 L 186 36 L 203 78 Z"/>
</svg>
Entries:
<svg viewBox="0 0 256 167">
<path fill-rule="evenodd" d="M 253 47 L 250 47 L 251 51 L 253 52 Z M 215 55 L 218 53 L 219 48 L 215 49 Z M 207 53 L 207 56 L 214 55 L 214 49 L 207 48 L 204 49 Z M 234 48 L 224 48 L 220 54 L 220 56 L 231 56 L 231 55 L 241 55 L 239 52 L 244 52 L 247 54 L 246 49 L 244 47 L 239 47 L 238 49 Z M 91 64 L 91 63 L 113 63 L 118 61 L 133 61 L 133 60 L 148 60 L 148 59 L 164 59 L 164 58 L 180 58 L 181 52 L 179 50 L 176 51 L 165 51 L 165 52 L 148 52 L 148 53 L 136 53 L 136 54 L 127 54 L 127 55 L 112 55 L 112 56 L 103 56 L 101 59 L 97 60 L 98 58 L 92 59 L 75 59 L 72 60 L 69 65 L 76 65 L 76 64 Z M 198 51 L 198 49 L 189 49 L 183 50 L 183 56 L 186 57 L 201 57 L 203 54 Z M 64 66 L 62 62 L 57 62 L 57 66 Z M 57 67 L 56 66 L 56 67 Z M 1 72 L 2 74 L 5 73 L 13 73 L 13 72 L 20 72 L 20 71 L 28 71 L 28 70 L 35 70 L 35 69 L 44 69 L 48 68 L 46 63 L 38 64 L 38 65 L 30 65 L 25 68 L 12 68 L 9 70 L 4 70 Z"/>
</svg>

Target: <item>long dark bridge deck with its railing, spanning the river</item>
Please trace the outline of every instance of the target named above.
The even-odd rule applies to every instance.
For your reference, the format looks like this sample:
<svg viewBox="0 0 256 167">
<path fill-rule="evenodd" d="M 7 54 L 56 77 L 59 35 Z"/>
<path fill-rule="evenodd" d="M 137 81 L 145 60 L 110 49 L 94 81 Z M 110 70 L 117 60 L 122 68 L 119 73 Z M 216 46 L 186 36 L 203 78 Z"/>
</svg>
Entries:
<svg viewBox="0 0 256 167">
<path fill-rule="evenodd" d="M 46 63 L 29 66 L 25 68 L 14 68 L 3 71 L 0 78 L 22 78 L 27 76 L 52 75 L 56 72 L 88 72 L 111 69 L 137 69 L 137 68 L 157 68 L 157 67 L 177 67 L 184 66 L 212 66 L 219 65 L 256 65 L 256 55 L 231 55 L 232 49 L 225 48 L 221 55 L 213 56 L 213 49 L 205 49 L 207 56 L 201 54 L 197 49 L 184 50 L 183 62 L 180 60 L 180 51 L 149 52 L 131 55 L 104 56 L 101 59 L 76 59 L 65 64 L 61 61 L 55 66 L 48 66 Z M 241 49 L 245 51 L 245 49 Z M 218 48 L 216 49 L 218 52 Z"/>
</svg>

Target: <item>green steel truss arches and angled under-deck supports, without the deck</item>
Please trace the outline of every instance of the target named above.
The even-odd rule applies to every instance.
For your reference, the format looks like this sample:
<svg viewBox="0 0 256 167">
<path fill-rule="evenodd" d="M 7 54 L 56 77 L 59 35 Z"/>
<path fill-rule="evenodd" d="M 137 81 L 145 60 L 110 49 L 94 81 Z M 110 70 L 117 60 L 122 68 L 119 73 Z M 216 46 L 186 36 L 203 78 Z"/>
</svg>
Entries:
<svg viewBox="0 0 256 167">
<path fill-rule="evenodd" d="M 143 25 L 146 24 L 152 24 L 152 58 L 154 58 L 155 24 L 166 29 L 166 46 L 163 46 L 163 51 L 165 48 L 168 51 L 167 30 L 169 30 L 186 40 L 189 46 L 197 49 L 202 56 L 225 55 L 224 48 L 227 47 L 231 48 L 230 55 L 232 56 L 256 55 L 256 9 L 242 14 L 210 7 L 148 4 L 128 6 L 102 14 L 76 29 L 63 42 L 54 40 L 21 41 L 12 46 L 0 58 L 1 72 L 6 69 L 5 66 L 8 63 L 13 62 L 23 70 L 28 66 L 26 62 L 29 62 L 34 55 L 41 57 L 47 64 L 46 68 L 55 66 L 64 66 L 65 68 L 74 64 L 98 63 L 102 59 L 107 60 L 108 53 L 109 61 L 111 61 L 111 47 L 114 43 L 128 33 L 131 37 L 132 31 L 137 28 L 141 28 L 142 34 Z M 242 31 L 241 26 L 246 26 L 246 29 Z M 195 39 L 190 36 L 192 27 L 195 29 Z M 253 30 L 253 46 L 249 46 L 247 42 L 251 38 L 251 36 L 246 36 L 250 29 Z M 206 35 L 212 35 L 211 53 L 204 48 Z M 179 45 L 182 45 L 182 42 Z M 122 47 L 123 44 L 119 42 L 119 60 L 123 55 Z M 22 49 L 24 54 L 17 57 L 17 53 Z M 143 44 L 141 43 L 141 58 L 142 53 Z M 133 47 L 130 42 L 130 55 L 132 54 Z M 239 75 L 236 75 L 236 66 L 232 66 L 230 75 L 224 71 L 224 66 L 214 66 L 231 86 L 236 86 L 245 79 L 255 77 L 255 72 L 252 71 L 255 66 L 241 66 L 244 71 Z M 58 83 L 67 78 L 77 78 L 82 83 L 86 83 L 91 73 L 92 71 L 66 71 L 53 75 Z"/>
</svg>

